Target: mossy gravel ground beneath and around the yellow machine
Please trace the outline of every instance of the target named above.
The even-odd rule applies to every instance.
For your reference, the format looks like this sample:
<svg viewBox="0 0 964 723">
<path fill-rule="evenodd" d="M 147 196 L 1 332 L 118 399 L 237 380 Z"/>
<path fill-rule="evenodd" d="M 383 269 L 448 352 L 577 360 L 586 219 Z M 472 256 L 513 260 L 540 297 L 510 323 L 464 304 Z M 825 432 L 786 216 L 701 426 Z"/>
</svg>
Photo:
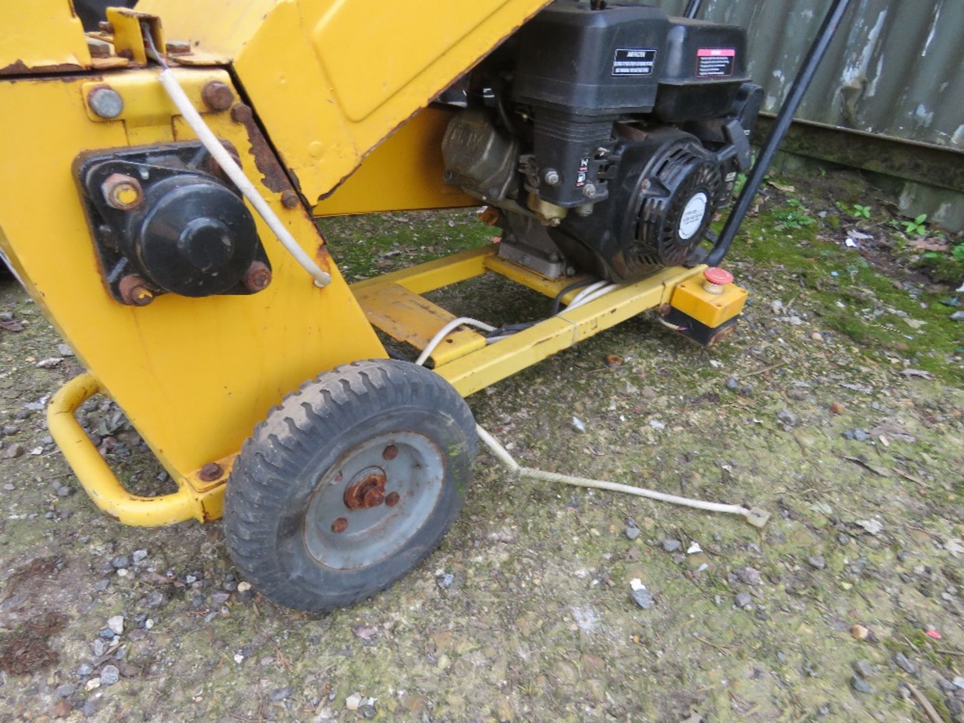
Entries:
<svg viewBox="0 0 964 723">
<path fill-rule="evenodd" d="M 463 211 L 331 228 L 335 258 L 339 234 L 382 254 L 354 276 L 488 232 Z M 951 371 L 932 373 L 829 328 L 825 294 L 844 308 L 845 289 L 786 259 L 729 267 L 753 304 L 726 346 L 644 315 L 469 403 L 529 466 L 757 504 L 763 530 L 513 480 L 482 453 L 441 549 L 314 616 L 239 579 L 220 522 L 97 512 L 40 411 L 77 368 L 0 281 L 0 720 L 964 720 L 959 356 L 935 352 Z M 496 279 L 440 297 L 499 321 L 545 306 Z M 119 410 L 82 418 L 131 489 L 168 489 Z"/>
</svg>

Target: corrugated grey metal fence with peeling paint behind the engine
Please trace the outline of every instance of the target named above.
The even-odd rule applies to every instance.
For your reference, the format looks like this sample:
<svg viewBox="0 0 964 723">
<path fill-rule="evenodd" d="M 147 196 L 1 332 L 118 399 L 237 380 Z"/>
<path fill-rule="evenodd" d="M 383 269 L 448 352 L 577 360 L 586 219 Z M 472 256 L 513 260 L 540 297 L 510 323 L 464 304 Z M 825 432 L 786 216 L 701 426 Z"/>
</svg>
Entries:
<svg viewBox="0 0 964 723">
<path fill-rule="evenodd" d="M 647 0 L 681 14 L 685 0 Z M 704 0 L 747 28 L 750 72 L 776 112 L 830 0 Z M 964 150 L 964 0 L 855 0 L 797 117 Z"/>
</svg>

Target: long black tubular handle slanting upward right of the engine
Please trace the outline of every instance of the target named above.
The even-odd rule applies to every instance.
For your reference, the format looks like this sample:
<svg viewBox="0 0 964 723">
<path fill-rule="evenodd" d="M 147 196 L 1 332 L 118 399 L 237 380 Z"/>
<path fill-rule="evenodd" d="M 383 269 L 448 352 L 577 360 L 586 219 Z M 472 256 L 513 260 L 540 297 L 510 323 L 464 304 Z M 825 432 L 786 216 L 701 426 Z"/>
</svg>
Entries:
<svg viewBox="0 0 964 723">
<path fill-rule="evenodd" d="M 777 148 L 780 147 L 784 136 L 786 136 L 787 131 L 790 130 L 790 123 L 793 122 L 793 116 L 797 108 L 800 107 L 800 101 L 803 100 L 803 95 L 807 92 L 807 88 L 810 87 L 810 82 L 817 73 L 817 67 L 819 67 L 820 61 L 823 60 L 830 41 L 833 40 L 837 29 L 840 27 L 841 20 L 843 20 L 844 13 L 849 5 L 850 0 L 834 0 L 830 6 L 830 10 L 828 10 L 824 16 L 823 23 L 817 31 L 817 38 L 814 39 L 813 44 L 810 46 L 807 57 L 804 59 L 800 71 L 796 74 L 796 78 L 793 79 L 793 85 L 790 87 L 787 100 L 784 101 L 783 107 L 780 109 L 780 113 L 777 115 L 777 119 L 770 129 L 770 134 L 766 137 L 766 142 L 763 144 L 763 147 L 760 148 L 760 155 L 757 156 L 757 162 L 753 164 L 753 169 L 750 171 L 750 175 L 743 185 L 743 191 L 740 193 L 739 198 L 736 200 L 736 205 L 734 205 L 733 210 L 727 217 L 726 224 L 723 226 L 723 230 L 720 231 L 719 238 L 713 246 L 712 251 L 710 251 L 710 255 L 707 256 L 706 261 L 704 261 L 708 266 L 716 266 L 719 264 L 719 262 L 723 260 L 723 256 L 730 251 L 730 245 L 736 237 L 736 231 L 739 230 L 739 225 L 743 223 L 746 212 L 750 210 L 750 204 L 757 195 L 757 191 L 760 190 L 761 184 L 763 184 L 763 176 L 769 170 L 770 164 L 773 163 L 773 157 L 776 155 Z"/>
</svg>

